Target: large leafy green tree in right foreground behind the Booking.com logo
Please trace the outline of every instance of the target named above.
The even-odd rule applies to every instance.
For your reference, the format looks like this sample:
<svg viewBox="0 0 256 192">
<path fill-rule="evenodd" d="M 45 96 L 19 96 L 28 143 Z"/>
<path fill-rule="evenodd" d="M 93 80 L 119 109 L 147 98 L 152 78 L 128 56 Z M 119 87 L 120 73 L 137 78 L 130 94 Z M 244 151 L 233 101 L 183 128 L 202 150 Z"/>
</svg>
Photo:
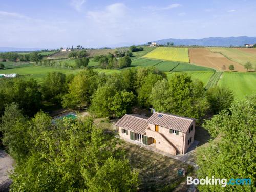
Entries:
<svg viewBox="0 0 256 192">
<path fill-rule="evenodd" d="M 210 141 L 208 147 L 198 151 L 198 178 L 250 178 L 255 183 L 255 109 L 256 95 L 236 101 L 211 120 L 204 127 L 212 137 L 220 135 L 220 141 Z M 239 165 L 239 166 L 236 166 Z M 198 185 L 199 191 L 255 191 L 251 185 Z"/>
</svg>

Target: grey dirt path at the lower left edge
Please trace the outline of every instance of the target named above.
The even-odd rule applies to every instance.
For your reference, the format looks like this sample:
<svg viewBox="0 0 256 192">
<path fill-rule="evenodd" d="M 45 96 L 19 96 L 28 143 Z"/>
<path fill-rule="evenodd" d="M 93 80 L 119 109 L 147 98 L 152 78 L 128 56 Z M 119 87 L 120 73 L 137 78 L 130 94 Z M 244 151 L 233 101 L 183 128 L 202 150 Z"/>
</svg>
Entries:
<svg viewBox="0 0 256 192">
<path fill-rule="evenodd" d="M 9 172 L 13 170 L 14 160 L 4 150 L 0 150 L 0 191 L 9 191 L 11 180 Z"/>
</svg>

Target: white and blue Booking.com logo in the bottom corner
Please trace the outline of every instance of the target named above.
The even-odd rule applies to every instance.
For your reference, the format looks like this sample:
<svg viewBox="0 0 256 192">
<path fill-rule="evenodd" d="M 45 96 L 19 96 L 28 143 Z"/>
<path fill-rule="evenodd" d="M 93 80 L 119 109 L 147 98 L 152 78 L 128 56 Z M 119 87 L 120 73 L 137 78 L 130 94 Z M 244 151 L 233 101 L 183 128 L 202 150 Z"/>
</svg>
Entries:
<svg viewBox="0 0 256 192">
<path fill-rule="evenodd" d="M 205 179 L 193 179 L 192 177 L 187 177 L 187 185 L 221 185 L 222 187 L 226 187 L 227 185 L 251 185 L 251 179 L 243 178 L 243 179 L 220 179 L 220 178 L 214 178 L 212 176 L 211 178 L 208 178 L 208 176 Z"/>
</svg>

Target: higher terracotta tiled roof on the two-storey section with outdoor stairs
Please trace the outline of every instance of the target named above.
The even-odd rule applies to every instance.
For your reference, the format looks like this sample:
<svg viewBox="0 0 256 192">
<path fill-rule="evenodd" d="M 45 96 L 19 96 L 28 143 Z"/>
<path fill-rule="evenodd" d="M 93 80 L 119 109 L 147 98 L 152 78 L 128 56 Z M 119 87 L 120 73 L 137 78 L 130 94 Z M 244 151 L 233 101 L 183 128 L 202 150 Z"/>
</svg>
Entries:
<svg viewBox="0 0 256 192">
<path fill-rule="evenodd" d="M 185 133 L 194 120 L 196 119 L 181 117 L 168 113 L 155 112 L 150 118 L 147 119 L 147 122 Z"/>
</svg>

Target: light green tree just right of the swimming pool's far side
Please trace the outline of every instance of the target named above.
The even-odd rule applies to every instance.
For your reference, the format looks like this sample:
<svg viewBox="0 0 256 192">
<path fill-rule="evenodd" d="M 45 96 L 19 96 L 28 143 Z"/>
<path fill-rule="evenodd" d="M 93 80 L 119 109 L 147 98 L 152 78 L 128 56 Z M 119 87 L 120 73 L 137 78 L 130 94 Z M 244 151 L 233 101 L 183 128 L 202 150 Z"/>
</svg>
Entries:
<svg viewBox="0 0 256 192">
<path fill-rule="evenodd" d="M 62 106 L 74 108 L 78 104 L 82 108 L 90 104 L 97 87 L 97 74 L 90 69 L 81 71 L 70 83 L 69 93 L 62 98 Z"/>
</svg>

